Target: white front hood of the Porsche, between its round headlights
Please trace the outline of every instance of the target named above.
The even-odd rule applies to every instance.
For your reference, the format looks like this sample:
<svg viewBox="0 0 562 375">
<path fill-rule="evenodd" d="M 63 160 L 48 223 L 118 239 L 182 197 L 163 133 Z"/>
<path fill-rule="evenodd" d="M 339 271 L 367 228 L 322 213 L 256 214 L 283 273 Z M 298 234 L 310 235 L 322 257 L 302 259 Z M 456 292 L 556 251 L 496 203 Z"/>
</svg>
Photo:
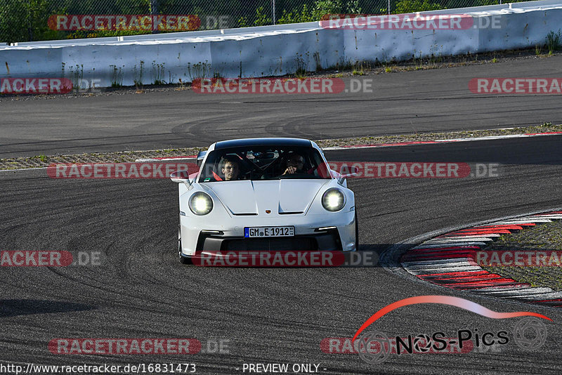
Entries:
<svg viewBox="0 0 562 375">
<path fill-rule="evenodd" d="M 306 213 L 318 190 L 329 179 L 243 180 L 204 184 L 233 215 Z"/>
</svg>

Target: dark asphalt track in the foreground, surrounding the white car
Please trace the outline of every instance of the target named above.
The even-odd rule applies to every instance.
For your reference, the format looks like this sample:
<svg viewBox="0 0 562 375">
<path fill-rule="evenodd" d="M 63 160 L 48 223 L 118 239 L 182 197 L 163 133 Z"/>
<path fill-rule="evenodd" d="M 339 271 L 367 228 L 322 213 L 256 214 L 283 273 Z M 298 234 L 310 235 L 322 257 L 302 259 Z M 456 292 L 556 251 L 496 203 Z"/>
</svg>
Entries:
<svg viewBox="0 0 562 375">
<path fill-rule="evenodd" d="M 446 77 L 447 73 L 438 74 Z M 491 103 L 501 100 L 497 98 Z M 518 98 L 504 100 L 525 112 Z M 556 97 L 521 100 L 528 108 L 537 107 L 540 100 L 542 114 L 558 118 L 561 114 L 559 105 L 554 108 Z M 533 100 L 537 102 L 533 104 Z M 293 104 L 285 103 L 287 107 Z M 96 105 L 92 103 L 91 107 Z M 264 103 L 260 105 L 263 114 L 270 109 Z M 452 107 L 450 114 L 444 116 L 438 114 L 439 108 L 434 108 L 433 117 L 428 117 L 424 129 L 495 126 L 496 121 L 484 123 L 476 119 L 476 115 L 469 125 L 462 121 L 462 113 L 473 105 L 468 100 L 464 108 Z M 4 111 L 4 103 L 1 106 Z M 431 108 L 427 103 L 420 106 L 426 110 Z M 488 110 L 492 111 L 493 106 L 490 104 Z M 551 106 L 553 109 L 549 110 Z M 228 108 L 225 107 L 221 121 L 228 121 Z M 25 105 L 20 107 L 23 109 Z M 484 111 L 483 107 L 477 110 Z M 252 121 L 259 119 L 260 112 L 257 109 L 253 112 Z M 297 112 L 301 112 L 301 119 Z M 376 112 L 373 110 L 370 114 Z M 416 110 L 410 107 L 401 113 L 406 118 L 414 112 Z M 506 124 L 536 122 L 507 112 L 506 108 L 503 115 Z M 55 121 L 54 111 L 51 116 Z M 241 118 L 242 112 L 237 116 Z M 442 116 L 443 121 L 430 129 L 431 118 L 437 116 Z M 497 116 L 499 121 L 500 113 Z M 536 114 L 530 116 L 539 120 Z M 295 123 L 308 121 L 298 109 L 289 117 L 292 119 L 287 121 Z M 211 119 L 209 117 L 208 121 Z M 114 120 L 115 129 L 119 125 L 117 122 Z M 339 122 L 345 124 L 343 119 Z M 353 121 L 347 121 L 350 122 Z M 386 127 L 381 126 L 376 131 L 386 133 L 392 124 L 389 121 Z M 398 128 L 391 132 L 404 130 Z M 285 135 L 276 131 L 270 133 Z M 338 130 L 331 135 L 337 136 Z M 34 136 L 41 138 L 40 133 Z M 207 137 L 212 136 L 213 132 L 209 131 Z M 3 136 L 2 143 L 6 142 Z M 91 140 L 91 147 L 98 147 L 102 142 L 103 138 Z M 132 144 L 143 143 L 135 140 Z M 495 178 L 349 180 L 358 205 L 362 250 L 381 252 L 425 232 L 561 207 L 561 146 L 562 136 L 546 136 L 334 151 L 327 152 L 327 158 L 500 164 L 499 176 Z M 2 153 L 24 152 L 28 146 L 18 147 L 11 145 L 6 152 L 3 146 Z M 67 146 L 64 142 L 60 146 L 53 142 L 45 143 L 44 147 L 62 150 Z M 0 172 L 0 181 L 1 249 L 102 251 L 104 254 L 103 264 L 98 266 L 1 269 L 1 362 L 191 362 L 197 364 L 199 374 L 242 374 L 244 362 L 320 363 L 320 374 L 560 374 L 562 371 L 560 309 L 449 292 L 413 282 L 380 267 L 182 266 L 176 260 L 177 187 L 169 180 L 53 180 L 41 169 Z M 385 305 L 426 294 L 468 298 L 498 312 L 532 311 L 547 315 L 554 322 L 545 323 L 547 341 L 544 346 L 530 352 L 510 342 L 499 350 L 473 350 L 455 355 L 390 355 L 383 364 L 371 365 L 358 355 L 327 354 L 320 350 L 323 338 L 353 336 L 368 317 Z M 382 317 L 374 328 L 389 336 L 443 331 L 452 337 L 461 329 L 478 329 L 481 333 L 505 330 L 511 335 L 515 322 L 516 319 L 489 319 L 452 306 L 413 305 Z M 218 339 L 230 341 L 229 353 L 220 355 L 53 355 L 47 349 L 53 338 L 89 337 L 197 338 L 202 343 Z"/>
</svg>

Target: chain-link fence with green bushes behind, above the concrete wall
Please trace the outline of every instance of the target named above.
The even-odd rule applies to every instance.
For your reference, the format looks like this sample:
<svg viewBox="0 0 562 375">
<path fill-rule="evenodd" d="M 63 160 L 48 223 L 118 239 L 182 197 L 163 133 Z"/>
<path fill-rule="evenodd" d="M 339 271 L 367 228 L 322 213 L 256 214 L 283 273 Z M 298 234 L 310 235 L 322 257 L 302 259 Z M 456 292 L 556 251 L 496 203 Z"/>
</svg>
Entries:
<svg viewBox="0 0 562 375">
<path fill-rule="evenodd" d="M 52 15 L 191 15 L 185 29 L 318 21 L 327 14 L 387 14 L 501 4 L 502 0 L 0 0 L 0 41 L 40 41 L 159 32 L 136 27 L 61 27 Z M 510 0 L 513 2 L 513 0 Z M 193 17 L 197 22 L 191 22 Z M 86 20 L 90 21 L 86 18 Z M 128 18 L 126 22 L 129 22 Z M 176 23 L 178 20 L 175 19 Z M 72 22 L 70 20 L 69 22 Z M 77 26 L 74 25 L 74 26 Z M 89 23 L 89 25 L 94 25 Z M 117 25 L 117 23 L 115 24 Z M 114 26 L 115 26 L 114 25 Z M 82 27 L 80 29 L 80 27 Z M 178 28 L 177 28 L 178 29 Z M 176 29 L 176 30 L 177 30 Z M 165 31 L 176 31 L 167 29 Z"/>
</svg>

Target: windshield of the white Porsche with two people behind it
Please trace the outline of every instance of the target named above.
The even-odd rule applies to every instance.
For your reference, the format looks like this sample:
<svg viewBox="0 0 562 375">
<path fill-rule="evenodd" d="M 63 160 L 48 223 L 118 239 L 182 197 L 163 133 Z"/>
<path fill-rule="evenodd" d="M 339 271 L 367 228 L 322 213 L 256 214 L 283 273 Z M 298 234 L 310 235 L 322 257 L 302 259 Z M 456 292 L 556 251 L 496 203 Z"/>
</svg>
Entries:
<svg viewBox="0 0 562 375">
<path fill-rule="evenodd" d="M 209 152 L 199 182 L 331 178 L 313 147 L 248 146 Z"/>
</svg>

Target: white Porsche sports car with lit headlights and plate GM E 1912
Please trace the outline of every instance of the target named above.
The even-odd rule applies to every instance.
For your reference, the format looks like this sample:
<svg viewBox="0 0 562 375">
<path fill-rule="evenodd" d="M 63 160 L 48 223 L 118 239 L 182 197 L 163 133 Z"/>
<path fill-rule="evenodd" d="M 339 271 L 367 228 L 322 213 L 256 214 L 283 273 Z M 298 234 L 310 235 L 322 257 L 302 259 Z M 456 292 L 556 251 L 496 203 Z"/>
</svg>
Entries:
<svg viewBox="0 0 562 375">
<path fill-rule="evenodd" d="M 355 197 L 311 140 L 226 140 L 197 156 L 179 183 L 178 255 L 205 251 L 355 251 Z"/>
</svg>

